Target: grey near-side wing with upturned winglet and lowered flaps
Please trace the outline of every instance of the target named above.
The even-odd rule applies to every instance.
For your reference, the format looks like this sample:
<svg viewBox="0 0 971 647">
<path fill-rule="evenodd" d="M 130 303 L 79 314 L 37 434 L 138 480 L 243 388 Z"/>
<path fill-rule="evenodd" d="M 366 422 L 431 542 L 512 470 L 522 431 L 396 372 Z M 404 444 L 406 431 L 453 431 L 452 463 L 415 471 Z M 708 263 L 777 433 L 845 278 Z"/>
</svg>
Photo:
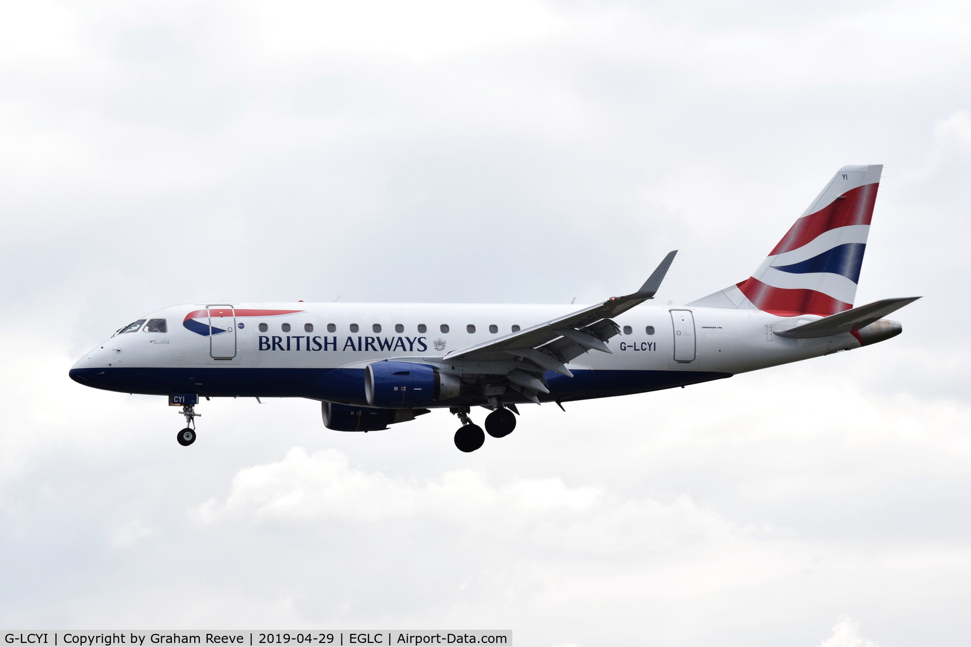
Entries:
<svg viewBox="0 0 971 647">
<path fill-rule="evenodd" d="M 669 252 L 657 266 L 648 280 L 637 292 L 624 297 L 612 297 L 596 306 L 586 307 L 571 314 L 552 319 L 543 324 L 506 335 L 497 340 L 479 343 L 462 348 L 445 356 L 444 362 L 503 362 L 514 358 L 525 361 L 519 366 L 526 372 L 542 375 L 547 370 L 572 376 L 566 364 L 589 350 L 606 353 L 613 351 L 605 341 L 619 333 L 616 323 L 610 317 L 619 315 L 649 299 L 660 287 L 678 250 Z M 519 375 L 519 369 L 510 372 L 510 381 L 538 391 L 547 391 L 535 377 Z M 518 381 L 519 378 L 519 381 Z M 539 386 L 540 388 L 536 388 Z"/>
</svg>

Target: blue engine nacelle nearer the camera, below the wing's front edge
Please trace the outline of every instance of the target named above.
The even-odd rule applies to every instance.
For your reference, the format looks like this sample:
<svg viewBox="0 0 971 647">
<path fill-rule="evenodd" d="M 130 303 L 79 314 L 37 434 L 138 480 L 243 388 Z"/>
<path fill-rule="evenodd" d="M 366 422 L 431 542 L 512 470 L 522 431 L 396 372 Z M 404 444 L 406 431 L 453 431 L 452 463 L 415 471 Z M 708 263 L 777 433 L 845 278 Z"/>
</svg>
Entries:
<svg viewBox="0 0 971 647">
<path fill-rule="evenodd" d="M 450 400 L 458 396 L 457 375 L 437 371 L 427 364 L 375 362 L 364 369 L 367 404 L 405 408 Z"/>
</svg>

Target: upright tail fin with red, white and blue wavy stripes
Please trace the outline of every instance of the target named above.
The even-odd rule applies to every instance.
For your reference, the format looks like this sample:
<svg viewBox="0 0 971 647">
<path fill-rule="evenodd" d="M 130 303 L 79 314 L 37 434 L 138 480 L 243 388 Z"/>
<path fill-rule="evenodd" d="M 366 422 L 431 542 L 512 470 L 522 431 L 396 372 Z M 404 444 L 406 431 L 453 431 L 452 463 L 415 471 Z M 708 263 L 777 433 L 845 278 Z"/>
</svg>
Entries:
<svg viewBox="0 0 971 647">
<path fill-rule="evenodd" d="M 844 166 L 752 276 L 687 305 L 753 307 L 780 316 L 852 308 L 883 170 L 882 164 Z"/>
</svg>

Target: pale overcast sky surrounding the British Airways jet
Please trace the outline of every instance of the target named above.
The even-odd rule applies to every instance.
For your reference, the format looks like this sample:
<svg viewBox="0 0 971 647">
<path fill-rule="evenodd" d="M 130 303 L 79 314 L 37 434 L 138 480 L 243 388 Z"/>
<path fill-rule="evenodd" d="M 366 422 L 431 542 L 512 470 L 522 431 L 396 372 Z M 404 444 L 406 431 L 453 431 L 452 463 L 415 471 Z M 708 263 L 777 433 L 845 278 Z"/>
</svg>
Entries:
<svg viewBox="0 0 971 647">
<path fill-rule="evenodd" d="M 967 3 L 0 7 L 0 625 L 971 642 Z M 857 304 L 922 295 L 901 337 L 473 454 L 301 400 L 184 448 L 67 375 L 213 299 L 591 303 L 679 248 L 686 303 L 866 163 Z"/>
</svg>

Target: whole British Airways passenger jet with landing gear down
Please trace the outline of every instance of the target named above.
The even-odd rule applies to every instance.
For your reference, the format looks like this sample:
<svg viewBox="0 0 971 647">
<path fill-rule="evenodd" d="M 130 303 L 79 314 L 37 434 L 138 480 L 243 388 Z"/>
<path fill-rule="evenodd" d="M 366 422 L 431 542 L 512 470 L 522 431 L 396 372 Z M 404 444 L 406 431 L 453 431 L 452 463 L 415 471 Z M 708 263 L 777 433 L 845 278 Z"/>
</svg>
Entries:
<svg viewBox="0 0 971 647">
<path fill-rule="evenodd" d="M 508 436 L 519 405 L 608 398 L 852 350 L 902 332 L 854 307 L 883 165 L 840 169 L 745 280 L 684 306 L 651 301 L 670 252 L 639 290 L 564 305 L 209 303 L 166 307 L 117 330 L 70 370 L 98 389 L 167 396 L 196 439 L 200 398 L 307 398 L 323 424 L 373 432 L 448 408 L 455 446 Z M 485 433 L 472 421 L 485 407 Z"/>
</svg>

